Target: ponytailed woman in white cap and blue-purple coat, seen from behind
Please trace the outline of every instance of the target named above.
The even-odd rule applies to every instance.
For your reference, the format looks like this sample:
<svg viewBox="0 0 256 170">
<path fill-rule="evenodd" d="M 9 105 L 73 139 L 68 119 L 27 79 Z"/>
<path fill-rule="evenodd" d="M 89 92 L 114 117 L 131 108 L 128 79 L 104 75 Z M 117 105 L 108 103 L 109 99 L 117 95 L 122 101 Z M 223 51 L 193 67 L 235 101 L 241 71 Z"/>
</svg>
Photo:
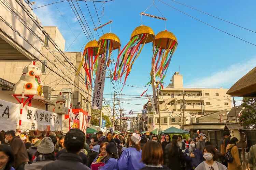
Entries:
<svg viewBox="0 0 256 170">
<path fill-rule="evenodd" d="M 119 158 L 119 170 L 137 170 L 145 166 L 141 161 L 142 151 L 140 140 L 141 137 L 138 134 L 132 134 L 131 140 L 129 141 L 129 148 L 127 148 Z"/>
</svg>

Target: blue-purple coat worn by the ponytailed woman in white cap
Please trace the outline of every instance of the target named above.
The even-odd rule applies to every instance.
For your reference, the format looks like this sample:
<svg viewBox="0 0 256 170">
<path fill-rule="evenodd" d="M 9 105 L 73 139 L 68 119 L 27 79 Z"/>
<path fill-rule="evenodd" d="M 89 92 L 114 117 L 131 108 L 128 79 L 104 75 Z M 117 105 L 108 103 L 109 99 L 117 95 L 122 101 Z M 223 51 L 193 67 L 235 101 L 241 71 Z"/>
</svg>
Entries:
<svg viewBox="0 0 256 170">
<path fill-rule="evenodd" d="M 138 170 L 143 168 L 145 165 L 141 162 L 141 153 L 141 150 L 137 151 L 133 146 L 124 150 L 118 160 L 119 170 Z"/>
</svg>

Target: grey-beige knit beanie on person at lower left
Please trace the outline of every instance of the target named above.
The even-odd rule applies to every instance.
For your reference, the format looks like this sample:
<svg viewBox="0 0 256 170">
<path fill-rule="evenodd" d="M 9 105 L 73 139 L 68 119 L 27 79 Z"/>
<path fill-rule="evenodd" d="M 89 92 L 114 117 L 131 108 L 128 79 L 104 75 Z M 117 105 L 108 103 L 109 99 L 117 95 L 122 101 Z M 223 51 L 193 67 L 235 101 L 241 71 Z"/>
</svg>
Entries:
<svg viewBox="0 0 256 170">
<path fill-rule="evenodd" d="M 52 153 L 54 151 L 52 139 L 50 137 L 43 138 L 37 147 L 37 151 L 42 154 Z"/>
</svg>

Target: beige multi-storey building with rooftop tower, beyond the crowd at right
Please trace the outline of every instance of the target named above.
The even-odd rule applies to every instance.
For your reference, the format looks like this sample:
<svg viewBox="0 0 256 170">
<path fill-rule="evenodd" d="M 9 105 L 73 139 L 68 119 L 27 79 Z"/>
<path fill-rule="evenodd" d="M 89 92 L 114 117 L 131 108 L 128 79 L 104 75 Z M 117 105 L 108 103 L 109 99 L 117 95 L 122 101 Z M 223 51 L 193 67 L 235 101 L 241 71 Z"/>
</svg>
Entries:
<svg viewBox="0 0 256 170">
<path fill-rule="evenodd" d="M 181 128 L 181 124 L 196 123 L 196 118 L 204 115 L 215 115 L 218 112 L 224 112 L 225 116 L 227 112 L 232 108 L 232 100 L 230 95 L 226 92 L 228 89 L 221 88 L 184 88 L 183 77 L 179 72 L 175 72 L 172 76 L 171 83 L 160 90 L 159 105 L 161 114 L 162 130 L 174 126 L 175 128 Z M 183 106 L 184 97 L 184 116 L 181 106 Z M 158 115 L 154 113 L 153 100 L 149 100 L 143 109 L 147 109 L 148 114 L 147 123 L 150 124 L 151 130 L 153 124 L 155 128 L 159 128 Z M 224 113 L 223 113 L 224 114 Z M 216 115 L 215 115 L 216 116 Z M 213 116 L 213 117 L 215 117 Z M 202 120 L 202 119 L 201 119 Z M 219 117 L 213 122 L 219 122 Z"/>
</svg>

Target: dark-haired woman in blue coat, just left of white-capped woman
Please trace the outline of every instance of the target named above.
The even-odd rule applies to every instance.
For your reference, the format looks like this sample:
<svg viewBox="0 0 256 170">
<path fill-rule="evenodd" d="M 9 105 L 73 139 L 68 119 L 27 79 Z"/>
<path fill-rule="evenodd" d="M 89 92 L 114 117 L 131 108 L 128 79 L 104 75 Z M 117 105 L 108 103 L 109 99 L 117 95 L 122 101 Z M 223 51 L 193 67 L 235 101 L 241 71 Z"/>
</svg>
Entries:
<svg viewBox="0 0 256 170">
<path fill-rule="evenodd" d="M 104 160 L 105 165 L 100 170 L 118 170 L 117 150 L 115 143 L 111 142 L 106 146 L 107 157 Z"/>
</svg>

